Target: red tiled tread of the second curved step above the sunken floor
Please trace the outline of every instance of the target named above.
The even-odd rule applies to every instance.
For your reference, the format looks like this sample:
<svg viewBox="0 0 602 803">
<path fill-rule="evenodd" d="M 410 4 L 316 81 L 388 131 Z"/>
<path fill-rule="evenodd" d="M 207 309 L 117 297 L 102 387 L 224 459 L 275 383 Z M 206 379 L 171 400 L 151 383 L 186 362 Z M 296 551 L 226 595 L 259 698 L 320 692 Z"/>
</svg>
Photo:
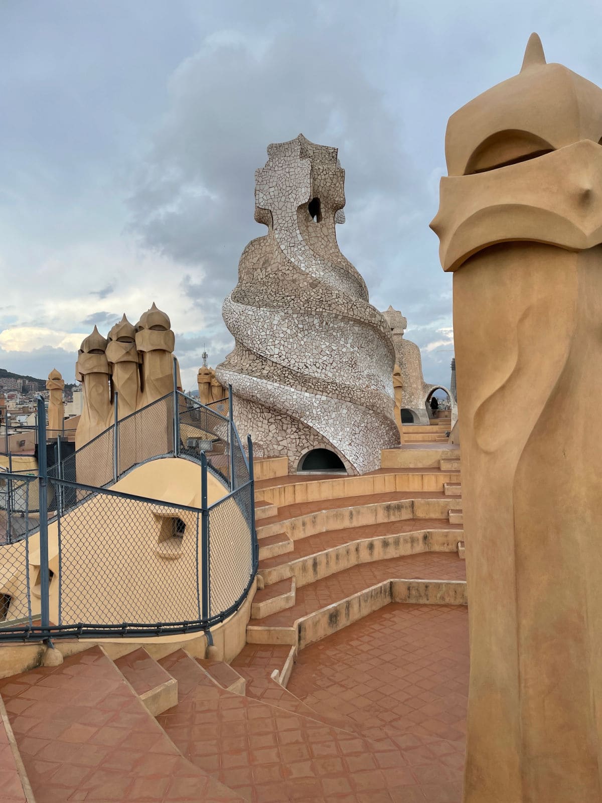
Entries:
<svg viewBox="0 0 602 803">
<path fill-rule="evenodd" d="M 385 521 L 382 524 L 367 524 L 363 527 L 348 527 L 344 530 L 319 532 L 314 536 L 295 540 L 295 548 L 292 552 L 263 558 L 259 562 L 259 568 L 265 567 L 268 569 L 271 566 L 290 563 L 291 560 L 297 560 L 299 557 L 315 555 L 325 549 L 337 547 L 340 544 L 349 544 L 352 541 L 364 538 L 380 538 L 381 536 L 392 536 L 401 532 L 415 532 L 417 530 L 462 530 L 462 525 L 449 524 L 448 519 L 405 519 L 402 521 Z M 261 546 L 262 543 L 263 541 L 260 540 L 259 545 Z"/>
</svg>

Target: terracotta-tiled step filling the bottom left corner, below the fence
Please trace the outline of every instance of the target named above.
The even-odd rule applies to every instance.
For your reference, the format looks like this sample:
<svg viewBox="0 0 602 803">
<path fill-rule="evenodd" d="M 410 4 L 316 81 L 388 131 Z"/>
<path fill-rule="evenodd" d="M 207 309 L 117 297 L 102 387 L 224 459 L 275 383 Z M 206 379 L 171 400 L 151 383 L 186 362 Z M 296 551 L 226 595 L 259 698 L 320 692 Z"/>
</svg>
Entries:
<svg viewBox="0 0 602 803">
<path fill-rule="evenodd" d="M 182 756 L 99 646 L 0 694 L 38 803 L 244 799 Z"/>
</svg>

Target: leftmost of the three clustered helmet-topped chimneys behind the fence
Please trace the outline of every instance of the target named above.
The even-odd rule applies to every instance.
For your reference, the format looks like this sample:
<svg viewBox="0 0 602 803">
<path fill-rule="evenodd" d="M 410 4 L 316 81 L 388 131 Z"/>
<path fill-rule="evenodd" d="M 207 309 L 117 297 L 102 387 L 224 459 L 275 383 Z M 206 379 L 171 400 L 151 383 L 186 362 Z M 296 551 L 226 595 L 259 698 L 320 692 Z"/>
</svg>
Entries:
<svg viewBox="0 0 602 803">
<path fill-rule="evenodd" d="M 82 341 L 75 366 L 76 376 L 83 384 L 83 410 L 75 433 L 75 448 L 96 438 L 112 423 L 111 395 L 107 340 L 96 326 Z"/>
</svg>

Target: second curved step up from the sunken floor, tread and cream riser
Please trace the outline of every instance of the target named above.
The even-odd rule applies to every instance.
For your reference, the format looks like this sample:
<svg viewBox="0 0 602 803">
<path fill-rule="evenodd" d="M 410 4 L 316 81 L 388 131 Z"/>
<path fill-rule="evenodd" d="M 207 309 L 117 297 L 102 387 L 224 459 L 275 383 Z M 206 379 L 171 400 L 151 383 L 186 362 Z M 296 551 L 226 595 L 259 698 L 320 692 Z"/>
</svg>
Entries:
<svg viewBox="0 0 602 803">
<path fill-rule="evenodd" d="M 446 500 L 445 508 L 448 506 Z M 449 512 L 443 515 L 445 518 L 388 521 L 300 538 L 291 552 L 260 560 L 259 574 L 266 589 L 291 576 L 300 587 L 360 563 L 413 552 L 454 551 L 460 528 L 449 524 Z"/>
</svg>

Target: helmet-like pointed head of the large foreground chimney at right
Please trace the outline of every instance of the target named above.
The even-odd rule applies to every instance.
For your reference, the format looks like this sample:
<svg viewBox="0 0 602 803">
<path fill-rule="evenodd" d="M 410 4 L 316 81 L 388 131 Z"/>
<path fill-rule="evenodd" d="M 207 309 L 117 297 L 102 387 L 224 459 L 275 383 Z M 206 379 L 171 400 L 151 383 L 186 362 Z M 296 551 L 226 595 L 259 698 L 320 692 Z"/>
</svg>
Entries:
<svg viewBox="0 0 602 803">
<path fill-rule="evenodd" d="M 496 243 L 602 243 L 602 89 L 547 64 L 530 39 L 519 75 L 449 118 L 431 227 L 445 271 Z"/>
</svg>

